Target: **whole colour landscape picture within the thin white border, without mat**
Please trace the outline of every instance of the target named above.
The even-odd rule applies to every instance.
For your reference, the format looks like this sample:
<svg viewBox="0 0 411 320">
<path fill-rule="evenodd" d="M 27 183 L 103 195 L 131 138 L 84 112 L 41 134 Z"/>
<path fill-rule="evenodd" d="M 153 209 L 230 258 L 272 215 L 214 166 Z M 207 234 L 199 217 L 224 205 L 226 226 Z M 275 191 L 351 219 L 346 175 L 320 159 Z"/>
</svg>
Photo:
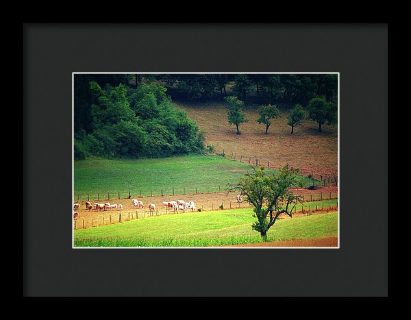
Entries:
<svg viewBox="0 0 411 320">
<path fill-rule="evenodd" d="M 338 73 L 73 73 L 73 247 L 338 248 L 338 97 Z"/>
</svg>

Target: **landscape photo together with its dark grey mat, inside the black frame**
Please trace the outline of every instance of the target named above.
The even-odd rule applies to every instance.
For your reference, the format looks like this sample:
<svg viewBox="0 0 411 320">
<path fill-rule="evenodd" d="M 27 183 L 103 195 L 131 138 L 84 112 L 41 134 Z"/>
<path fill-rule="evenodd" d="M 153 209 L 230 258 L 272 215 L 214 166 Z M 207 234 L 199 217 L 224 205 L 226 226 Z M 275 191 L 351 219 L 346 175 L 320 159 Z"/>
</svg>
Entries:
<svg viewBox="0 0 411 320">
<path fill-rule="evenodd" d="M 26 24 L 23 71 L 23 295 L 388 295 L 387 24 Z"/>
</svg>

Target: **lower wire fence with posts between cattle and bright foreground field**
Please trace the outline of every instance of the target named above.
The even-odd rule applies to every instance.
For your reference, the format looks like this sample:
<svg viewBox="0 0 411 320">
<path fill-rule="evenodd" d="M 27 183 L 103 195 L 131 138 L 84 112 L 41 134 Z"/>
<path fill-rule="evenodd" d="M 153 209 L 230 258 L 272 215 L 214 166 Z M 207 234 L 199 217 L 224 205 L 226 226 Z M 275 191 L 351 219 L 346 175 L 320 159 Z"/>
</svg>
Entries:
<svg viewBox="0 0 411 320">
<path fill-rule="evenodd" d="M 305 195 L 302 197 L 303 206 L 297 206 L 293 212 L 310 214 L 310 212 L 324 211 L 324 210 L 334 210 L 333 208 L 338 208 L 338 201 L 336 204 L 334 202 L 326 202 L 326 200 L 338 199 L 337 193 L 319 193 L 318 195 Z M 310 202 L 322 201 L 321 204 L 310 205 Z M 300 208 L 301 207 L 301 208 Z M 204 212 L 213 210 L 227 210 L 236 208 L 251 208 L 251 204 L 247 202 L 236 202 L 236 201 L 221 201 L 214 202 L 209 201 L 201 204 L 195 208 L 195 210 L 174 210 L 170 208 L 157 207 L 155 210 L 149 210 L 148 208 L 133 208 L 132 210 L 107 210 L 99 211 L 97 214 L 95 212 L 90 212 L 88 210 L 77 210 L 77 217 L 74 219 L 74 229 L 86 229 L 89 227 L 97 227 L 99 225 L 108 225 L 113 223 L 121 223 L 124 221 L 131 221 L 135 219 L 146 219 L 149 217 L 159 217 L 164 214 L 182 214 L 186 212 Z M 328 212 L 327 210 L 327 212 Z"/>
</svg>

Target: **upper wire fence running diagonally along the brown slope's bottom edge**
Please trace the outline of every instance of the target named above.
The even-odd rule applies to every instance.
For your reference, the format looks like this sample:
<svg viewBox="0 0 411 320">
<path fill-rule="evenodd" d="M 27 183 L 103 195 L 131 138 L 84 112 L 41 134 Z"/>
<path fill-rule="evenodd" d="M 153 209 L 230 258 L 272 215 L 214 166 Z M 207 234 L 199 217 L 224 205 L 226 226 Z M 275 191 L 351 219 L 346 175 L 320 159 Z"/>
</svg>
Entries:
<svg viewBox="0 0 411 320">
<path fill-rule="evenodd" d="M 244 156 L 244 155 L 237 155 L 235 152 L 225 152 L 225 149 L 223 149 L 223 152 L 221 153 L 216 153 L 219 156 L 223 156 L 225 158 L 229 158 L 232 160 L 236 160 L 242 163 L 250 164 L 252 166 L 256 167 L 266 167 L 267 169 L 273 169 L 273 170 L 281 170 L 282 165 L 275 164 L 276 162 L 270 161 L 270 160 L 260 160 L 260 158 L 256 158 L 255 156 Z M 292 169 L 297 169 L 297 168 L 292 168 Z M 313 184 L 321 185 L 321 186 L 338 186 L 338 176 L 337 175 L 321 175 L 319 173 L 314 173 L 314 171 L 310 171 L 307 169 L 299 169 L 299 174 L 302 175 L 303 177 L 310 177 L 313 179 Z M 316 180 L 316 182 L 315 182 Z"/>
</svg>

